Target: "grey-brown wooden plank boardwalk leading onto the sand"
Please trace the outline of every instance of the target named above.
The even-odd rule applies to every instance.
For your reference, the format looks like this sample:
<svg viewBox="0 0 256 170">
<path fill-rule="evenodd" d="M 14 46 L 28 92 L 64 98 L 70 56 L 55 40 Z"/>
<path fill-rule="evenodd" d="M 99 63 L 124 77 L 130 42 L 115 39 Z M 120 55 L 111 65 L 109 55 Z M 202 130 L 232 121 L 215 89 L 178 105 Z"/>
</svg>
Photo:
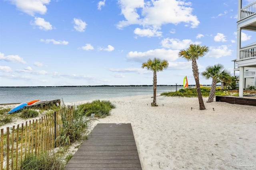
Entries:
<svg viewBox="0 0 256 170">
<path fill-rule="evenodd" d="M 131 124 L 97 124 L 65 170 L 142 170 Z"/>
</svg>

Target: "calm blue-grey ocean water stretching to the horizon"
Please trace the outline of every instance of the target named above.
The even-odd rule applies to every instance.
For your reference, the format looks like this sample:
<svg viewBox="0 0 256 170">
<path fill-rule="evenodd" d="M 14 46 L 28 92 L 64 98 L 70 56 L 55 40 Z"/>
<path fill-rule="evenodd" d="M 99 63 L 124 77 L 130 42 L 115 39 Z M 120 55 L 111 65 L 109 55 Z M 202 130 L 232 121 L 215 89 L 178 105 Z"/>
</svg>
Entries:
<svg viewBox="0 0 256 170">
<path fill-rule="evenodd" d="M 177 86 L 181 89 L 183 86 Z M 157 86 L 156 93 L 176 91 L 176 86 Z M 55 100 L 79 102 L 125 96 L 153 96 L 152 86 L 110 86 L 110 87 L 22 87 L 0 88 L 0 104 L 22 103 L 31 100 Z"/>
</svg>

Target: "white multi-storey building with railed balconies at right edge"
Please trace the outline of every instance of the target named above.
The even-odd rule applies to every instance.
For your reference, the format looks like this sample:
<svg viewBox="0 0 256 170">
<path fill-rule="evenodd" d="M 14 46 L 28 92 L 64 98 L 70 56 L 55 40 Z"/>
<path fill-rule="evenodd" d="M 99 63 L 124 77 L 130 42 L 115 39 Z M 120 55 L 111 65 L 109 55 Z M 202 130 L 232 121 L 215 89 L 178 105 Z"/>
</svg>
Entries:
<svg viewBox="0 0 256 170">
<path fill-rule="evenodd" d="M 240 71 L 239 97 L 243 97 L 244 88 L 247 88 L 248 85 L 253 85 L 253 83 L 255 86 L 256 82 L 256 42 L 241 47 L 241 31 L 256 31 L 256 0 L 244 8 L 242 8 L 242 1 L 243 0 L 238 0 L 237 17 L 236 64 L 238 65 L 238 68 L 236 70 Z"/>
</svg>

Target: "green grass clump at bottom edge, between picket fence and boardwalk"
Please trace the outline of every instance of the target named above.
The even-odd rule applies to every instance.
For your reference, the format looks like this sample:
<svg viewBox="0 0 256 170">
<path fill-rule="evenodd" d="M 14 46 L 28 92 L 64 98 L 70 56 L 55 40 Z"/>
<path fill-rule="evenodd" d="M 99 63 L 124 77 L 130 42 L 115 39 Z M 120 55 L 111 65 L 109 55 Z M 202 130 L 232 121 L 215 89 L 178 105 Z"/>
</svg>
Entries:
<svg viewBox="0 0 256 170">
<path fill-rule="evenodd" d="M 54 154 L 42 153 L 39 155 L 28 154 L 20 165 L 20 170 L 62 170 L 63 163 Z"/>
</svg>

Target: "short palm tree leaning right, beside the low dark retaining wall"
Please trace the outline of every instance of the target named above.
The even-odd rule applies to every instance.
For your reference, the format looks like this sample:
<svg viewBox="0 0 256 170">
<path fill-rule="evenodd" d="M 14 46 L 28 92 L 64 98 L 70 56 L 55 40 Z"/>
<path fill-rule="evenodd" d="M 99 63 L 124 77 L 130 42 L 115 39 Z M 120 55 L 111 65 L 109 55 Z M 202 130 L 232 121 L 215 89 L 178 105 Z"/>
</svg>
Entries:
<svg viewBox="0 0 256 170">
<path fill-rule="evenodd" d="M 216 84 L 217 81 L 224 80 L 225 78 L 228 79 L 228 76 L 230 76 L 230 72 L 226 69 L 224 69 L 224 66 L 222 64 L 215 64 L 214 66 L 207 66 L 206 70 L 203 71 L 202 76 L 204 76 L 207 80 L 209 78 L 212 78 L 212 87 L 210 90 L 208 103 L 213 102 L 215 91 L 216 91 Z"/>
</svg>

